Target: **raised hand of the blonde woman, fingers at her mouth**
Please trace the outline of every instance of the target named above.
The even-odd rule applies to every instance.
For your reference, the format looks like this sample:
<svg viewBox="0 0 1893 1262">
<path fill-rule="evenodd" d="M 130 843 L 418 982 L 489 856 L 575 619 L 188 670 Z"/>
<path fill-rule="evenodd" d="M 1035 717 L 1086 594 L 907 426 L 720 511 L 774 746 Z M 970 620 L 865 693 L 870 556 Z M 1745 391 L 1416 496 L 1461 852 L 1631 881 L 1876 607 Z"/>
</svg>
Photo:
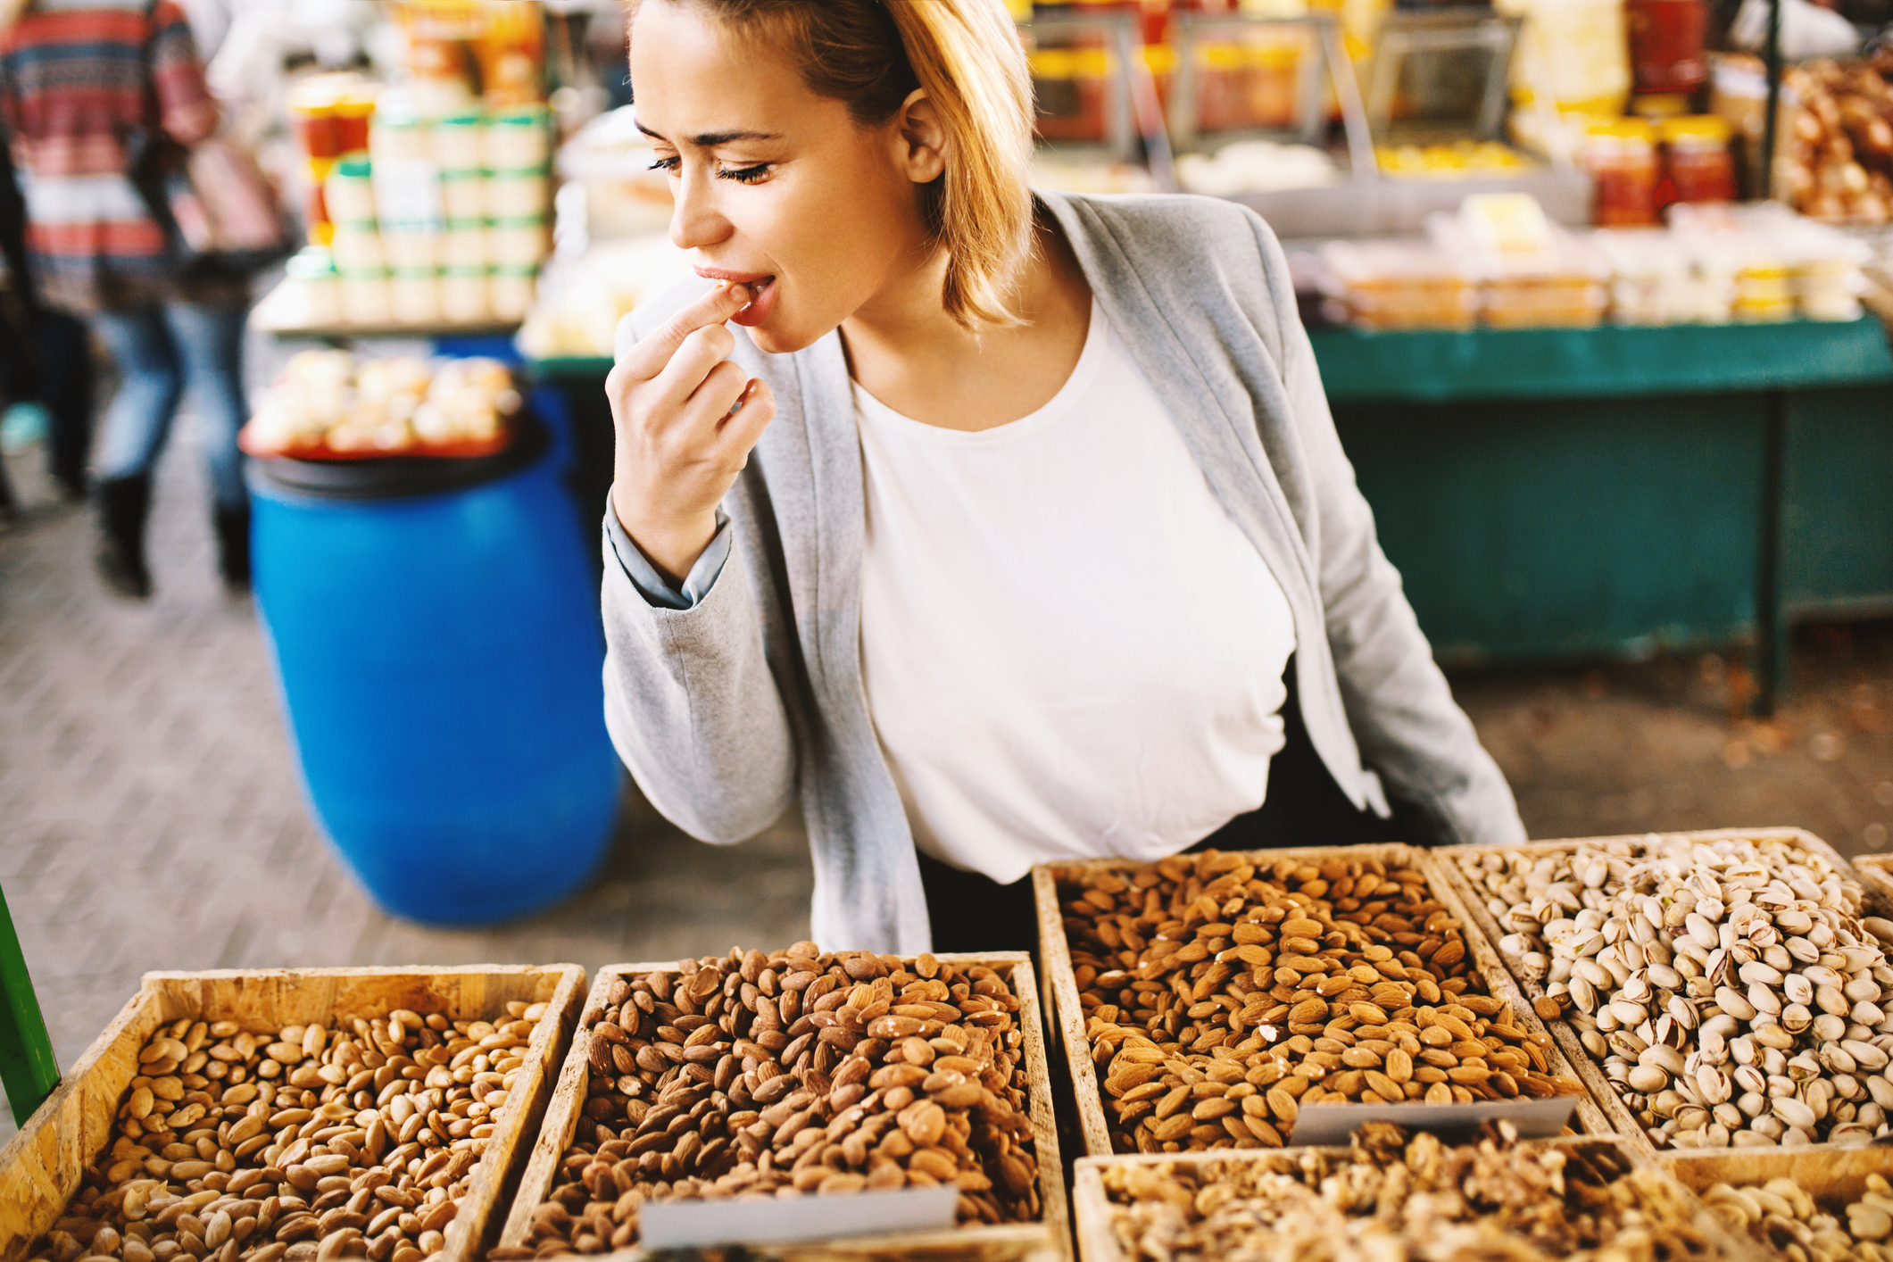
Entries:
<svg viewBox="0 0 1893 1262">
<path fill-rule="evenodd" d="M 619 358 L 604 382 L 617 428 L 611 509 L 672 581 L 710 547 L 716 505 L 776 414 L 769 386 L 729 359 L 736 337 L 723 322 L 748 301 L 740 284 L 706 293 Z"/>
</svg>

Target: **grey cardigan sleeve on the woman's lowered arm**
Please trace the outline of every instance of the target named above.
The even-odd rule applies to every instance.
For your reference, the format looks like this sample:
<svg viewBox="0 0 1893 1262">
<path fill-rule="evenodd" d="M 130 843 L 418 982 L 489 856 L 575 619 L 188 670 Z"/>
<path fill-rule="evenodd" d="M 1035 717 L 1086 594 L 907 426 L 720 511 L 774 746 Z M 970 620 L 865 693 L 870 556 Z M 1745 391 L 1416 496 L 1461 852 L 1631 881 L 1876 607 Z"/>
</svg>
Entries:
<svg viewBox="0 0 1893 1262">
<path fill-rule="evenodd" d="M 1416 806 L 1442 842 L 1513 846 L 1526 840 L 1511 785 L 1478 744 L 1414 617 L 1401 575 L 1380 551 L 1374 513 L 1353 481 L 1321 369 L 1295 307 L 1287 257 L 1253 219 L 1268 276 L 1280 367 L 1314 482 L 1316 581 L 1342 706 L 1388 791 Z"/>
</svg>

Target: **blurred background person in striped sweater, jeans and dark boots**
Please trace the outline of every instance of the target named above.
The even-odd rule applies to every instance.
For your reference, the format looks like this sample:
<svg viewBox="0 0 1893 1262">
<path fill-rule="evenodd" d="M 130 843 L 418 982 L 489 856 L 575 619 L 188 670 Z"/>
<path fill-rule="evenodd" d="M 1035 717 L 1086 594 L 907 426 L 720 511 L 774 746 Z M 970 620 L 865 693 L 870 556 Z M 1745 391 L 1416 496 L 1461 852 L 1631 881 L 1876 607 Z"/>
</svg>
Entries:
<svg viewBox="0 0 1893 1262">
<path fill-rule="evenodd" d="M 138 153 L 191 146 L 218 125 L 189 23 L 172 0 L 11 0 L 0 30 L 0 119 L 25 176 L 27 250 L 40 299 L 87 318 L 119 369 L 97 467 L 98 570 L 151 594 L 144 522 L 184 386 L 210 462 L 220 570 L 250 583 L 250 498 L 237 429 L 248 282 L 182 272 L 133 187 Z M 6 13 L 0 13 L 4 19 Z"/>
</svg>

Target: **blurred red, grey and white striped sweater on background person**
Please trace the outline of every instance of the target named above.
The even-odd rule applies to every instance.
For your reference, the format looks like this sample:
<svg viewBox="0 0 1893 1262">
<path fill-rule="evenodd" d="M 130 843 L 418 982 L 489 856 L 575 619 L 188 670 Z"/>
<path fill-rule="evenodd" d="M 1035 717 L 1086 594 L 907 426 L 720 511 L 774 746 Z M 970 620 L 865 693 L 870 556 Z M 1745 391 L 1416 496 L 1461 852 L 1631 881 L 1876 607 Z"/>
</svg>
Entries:
<svg viewBox="0 0 1893 1262">
<path fill-rule="evenodd" d="M 144 136 L 197 144 L 218 125 L 174 0 L 32 0 L 0 32 L 0 121 L 42 301 L 89 314 L 174 297 L 165 233 L 129 180 Z"/>
</svg>

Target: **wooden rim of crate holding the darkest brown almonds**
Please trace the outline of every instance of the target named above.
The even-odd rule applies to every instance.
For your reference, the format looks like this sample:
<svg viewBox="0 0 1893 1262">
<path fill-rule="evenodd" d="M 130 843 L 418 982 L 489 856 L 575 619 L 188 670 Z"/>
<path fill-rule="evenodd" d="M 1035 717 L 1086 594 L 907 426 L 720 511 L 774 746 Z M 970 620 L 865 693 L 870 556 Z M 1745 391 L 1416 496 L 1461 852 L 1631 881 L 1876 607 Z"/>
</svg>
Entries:
<svg viewBox="0 0 1893 1262">
<path fill-rule="evenodd" d="M 1053 1120 L 1051 1071 L 1045 1060 L 1045 1025 L 1039 1018 L 1039 991 L 1032 978 L 1032 957 L 1026 952 L 990 952 L 977 955 L 937 954 L 941 963 L 984 965 L 1007 978 L 1018 997 L 1018 1027 L 1024 1031 L 1026 1094 L 1032 1113 L 1034 1154 L 1039 1162 L 1039 1222 L 1005 1222 L 1000 1226 L 960 1226 L 945 1232 L 905 1232 L 893 1236 L 852 1236 L 831 1241 L 772 1245 L 770 1258 L 780 1262 L 827 1262 L 829 1258 L 952 1258 L 954 1262 L 1015 1262 L 1020 1258 L 1070 1258 L 1071 1226 L 1066 1213 L 1064 1162 L 1058 1158 L 1058 1126 Z M 606 965 L 598 969 L 591 999 L 585 1007 L 604 1008 L 606 991 L 617 976 L 649 973 L 678 973 L 676 961 Z M 519 1179 L 519 1194 L 500 1232 L 500 1245 L 517 1249 L 532 1236 L 532 1211 L 553 1192 L 558 1162 L 577 1135 L 591 1082 L 591 1031 L 572 1037 L 564 1069 L 553 1088 L 551 1105 L 540 1137 L 532 1145 L 532 1160 Z M 846 1200 L 837 1198 L 837 1213 L 846 1213 Z M 759 1243 L 759 1241 L 757 1241 Z M 653 1256 L 646 1249 L 619 1249 L 602 1254 L 613 1262 Z"/>
</svg>

